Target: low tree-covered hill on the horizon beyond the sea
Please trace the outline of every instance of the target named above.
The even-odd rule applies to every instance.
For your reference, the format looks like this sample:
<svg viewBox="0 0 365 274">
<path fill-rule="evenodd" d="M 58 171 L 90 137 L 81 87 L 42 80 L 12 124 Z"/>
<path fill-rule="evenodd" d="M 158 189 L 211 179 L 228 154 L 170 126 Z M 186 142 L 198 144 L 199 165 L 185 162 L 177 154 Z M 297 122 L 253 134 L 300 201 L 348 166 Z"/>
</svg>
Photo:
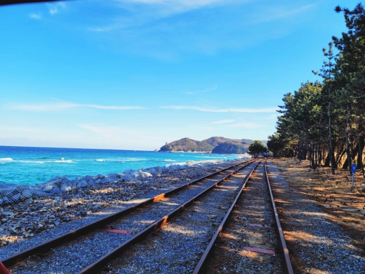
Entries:
<svg viewBox="0 0 365 274">
<path fill-rule="evenodd" d="M 190 138 L 182 138 L 171 143 L 166 143 L 160 148 L 160 152 L 209 152 L 221 154 L 243 154 L 253 140 L 250 139 L 228 139 L 224 137 L 210 137 L 203 141 L 196 141 Z M 266 143 L 266 141 L 264 141 Z"/>
</svg>

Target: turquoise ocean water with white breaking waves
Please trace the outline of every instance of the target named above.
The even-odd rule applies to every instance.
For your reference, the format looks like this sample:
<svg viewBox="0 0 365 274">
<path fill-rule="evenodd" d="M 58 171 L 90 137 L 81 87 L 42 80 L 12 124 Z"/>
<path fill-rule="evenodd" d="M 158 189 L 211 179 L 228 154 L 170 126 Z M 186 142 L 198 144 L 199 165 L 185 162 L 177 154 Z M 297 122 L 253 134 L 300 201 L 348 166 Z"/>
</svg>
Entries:
<svg viewBox="0 0 365 274">
<path fill-rule="evenodd" d="M 237 157 L 234 154 L 0 146 L 0 185 L 35 185 L 57 176 L 73 180 L 86 175 Z"/>
</svg>

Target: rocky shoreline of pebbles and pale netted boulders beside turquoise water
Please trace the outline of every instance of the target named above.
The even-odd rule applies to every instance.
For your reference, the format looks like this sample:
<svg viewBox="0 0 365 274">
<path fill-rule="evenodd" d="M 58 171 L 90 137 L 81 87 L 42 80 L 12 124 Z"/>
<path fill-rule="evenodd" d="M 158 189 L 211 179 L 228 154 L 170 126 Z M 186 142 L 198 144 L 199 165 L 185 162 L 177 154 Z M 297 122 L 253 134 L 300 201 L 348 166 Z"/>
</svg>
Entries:
<svg viewBox="0 0 365 274">
<path fill-rule="evenodd" d="M 233 162 L 154 167 L 76 180 L 60 177 L 45 183 L 43 189 L 39 186 L 33 189 L 18 187 L 26 195 L 20 194 L 16 201 L 0 208 L 0 258 L 12 252 L 4 251 L 9 245 L 16 244 L 16 250 L 22 249 L 17 248 L 21 242 L 44 232 L 55 235 L 58 233 L 56 228 L 60 228 L 60 234 L 63 234 L 61 227 L 67 223 L 100 218 L 104 215 L 102 212 L 113 213 L 130 206 L 132 199 L 157 195 L 176 184 L 186 183 Z M 73 226 L 70 229 L 74 229 Z"/>
</svg>

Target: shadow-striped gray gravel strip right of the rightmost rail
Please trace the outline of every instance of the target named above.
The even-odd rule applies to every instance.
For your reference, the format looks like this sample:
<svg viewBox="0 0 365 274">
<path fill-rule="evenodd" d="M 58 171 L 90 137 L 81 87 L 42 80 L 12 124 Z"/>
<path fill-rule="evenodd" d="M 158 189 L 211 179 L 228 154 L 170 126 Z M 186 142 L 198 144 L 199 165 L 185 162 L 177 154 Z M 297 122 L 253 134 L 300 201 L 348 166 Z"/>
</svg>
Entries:
<svg viewBox="0 0 365 274">
<path fill-rule="evenodd" d="M 365 258 L 320 207 L 292 191 L 272 163 L 269 178 L 296 273 L 364 274 Z"/>
</svg>

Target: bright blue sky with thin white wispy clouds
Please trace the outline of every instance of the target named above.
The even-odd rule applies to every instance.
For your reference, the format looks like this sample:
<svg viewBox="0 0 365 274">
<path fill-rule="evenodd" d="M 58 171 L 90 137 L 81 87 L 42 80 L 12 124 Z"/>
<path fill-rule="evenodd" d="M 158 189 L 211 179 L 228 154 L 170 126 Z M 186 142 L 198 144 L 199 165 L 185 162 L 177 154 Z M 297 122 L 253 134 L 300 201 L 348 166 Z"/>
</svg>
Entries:
<svg viewBox="0 0 365 274">
<path fill-rule="evenodd" d="M 0 145 L 154 150 L 265 140 L 315 81 L 337 4 L 71 0 L 0 6 Z M 320 79 L 318 79 L 320 80 Z"/>
</svg>

